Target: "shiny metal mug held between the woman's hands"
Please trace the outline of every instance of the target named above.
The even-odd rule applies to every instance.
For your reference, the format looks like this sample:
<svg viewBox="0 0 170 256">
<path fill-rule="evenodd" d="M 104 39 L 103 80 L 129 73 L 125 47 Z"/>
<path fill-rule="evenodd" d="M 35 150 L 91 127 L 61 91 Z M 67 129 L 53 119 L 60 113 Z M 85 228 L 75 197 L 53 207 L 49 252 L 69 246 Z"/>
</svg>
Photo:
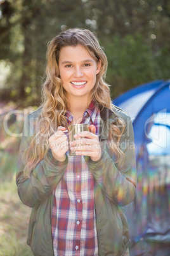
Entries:
<svg viewBox="0 0 170 256">
<path fill-rule="evenodd" d="M 74 138 L 74 135 L 79 132 L 89 131 L 89 124 L 71 124 L 68 127 L 69 130 L 69 155 L 76 155 L 74 151 L 70 150 L 70 142 L 80 138 Z M 84 137 L 81 137 L 84 138 Z"/>
</svg>

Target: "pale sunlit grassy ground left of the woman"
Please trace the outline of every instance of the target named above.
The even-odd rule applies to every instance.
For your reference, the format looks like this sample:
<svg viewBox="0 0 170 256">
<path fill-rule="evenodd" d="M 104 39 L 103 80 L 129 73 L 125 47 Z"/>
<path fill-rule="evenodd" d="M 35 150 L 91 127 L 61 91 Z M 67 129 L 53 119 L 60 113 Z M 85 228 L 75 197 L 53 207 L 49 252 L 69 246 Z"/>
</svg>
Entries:
<svg viewBox="0 0 170 256">
<path fill-rule="evenodd" d="M 11 131 L 18 132 L 23 120 L 10 125 Z M 20 138 L 4 131 L 0 120 L 0 255 L 32 256 L 27 245 L 27 231 L 31 208 L 25 206 L 18 197 L 15 184 L 15 166 Z"/>
</svg>

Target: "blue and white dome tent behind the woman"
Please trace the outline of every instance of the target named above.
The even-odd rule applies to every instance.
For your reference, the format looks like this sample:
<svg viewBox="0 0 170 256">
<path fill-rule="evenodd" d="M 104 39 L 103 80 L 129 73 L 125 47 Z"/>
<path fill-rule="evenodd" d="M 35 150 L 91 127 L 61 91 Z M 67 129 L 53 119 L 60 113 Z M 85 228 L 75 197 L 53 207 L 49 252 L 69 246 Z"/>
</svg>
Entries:
<svg viewBox="0 0 170 256">
<path fill-rule="evenodd" d="M 133 121 L 138 186 L 134 201 L 124 207 L 131 240 L 156 241 L 165 248 L 170 245 L 170 81 L 146 83 L 113 103 Z M 162 253 L 145 245 L 142 254 L 143 246 L 131 255 Z M 170 255 L 170 248 L 168 253 L 163 255 Z"/>
</svg>

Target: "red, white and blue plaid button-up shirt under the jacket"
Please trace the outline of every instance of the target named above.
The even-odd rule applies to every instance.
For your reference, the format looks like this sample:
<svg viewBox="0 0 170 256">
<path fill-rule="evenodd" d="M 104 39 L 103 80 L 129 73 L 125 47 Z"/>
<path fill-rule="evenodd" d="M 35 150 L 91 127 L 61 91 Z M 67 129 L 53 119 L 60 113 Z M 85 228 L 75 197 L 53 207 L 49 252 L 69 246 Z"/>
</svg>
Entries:
<svg viewBox="0 0 170 256">
<path fill-rule="evenodd" d="M 68 111 L 69 124 L 73 116 Z M 100 125 L 100 110 L 92 101 L 81 124 Z M 65 174 L 53 191 L 51 230 L 56 255 L 98 255 L 95 179 L 81 155 L 69 156 Z"/>
</svg>

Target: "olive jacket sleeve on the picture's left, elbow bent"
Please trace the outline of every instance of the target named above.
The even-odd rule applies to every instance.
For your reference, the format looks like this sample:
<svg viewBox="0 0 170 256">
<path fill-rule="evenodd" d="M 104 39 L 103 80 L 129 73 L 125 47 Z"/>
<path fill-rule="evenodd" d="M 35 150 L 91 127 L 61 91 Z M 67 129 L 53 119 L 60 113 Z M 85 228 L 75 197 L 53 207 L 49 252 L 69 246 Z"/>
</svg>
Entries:
<svg viewBox="0 0 170 256">
<path fill-rule="evenodd" d="M 44 159 L 37 164 L 30 176 L 25 175 L 23 168 L 26 161 L 23 152 L 29 147 L 34 134 L 34 124 L 31 120 L 32 118 L 29 115 L 24 122 L 16 168 L 16 185 L 18 187 L 18 196 L 23 204 L 34 207 L 48 197 L 58 185 L 65 173 L 68 157 L 66 157 L 64 162 L 59 162 L 53 158 L 51 150 L 48 150 Z"/>
</svg>

